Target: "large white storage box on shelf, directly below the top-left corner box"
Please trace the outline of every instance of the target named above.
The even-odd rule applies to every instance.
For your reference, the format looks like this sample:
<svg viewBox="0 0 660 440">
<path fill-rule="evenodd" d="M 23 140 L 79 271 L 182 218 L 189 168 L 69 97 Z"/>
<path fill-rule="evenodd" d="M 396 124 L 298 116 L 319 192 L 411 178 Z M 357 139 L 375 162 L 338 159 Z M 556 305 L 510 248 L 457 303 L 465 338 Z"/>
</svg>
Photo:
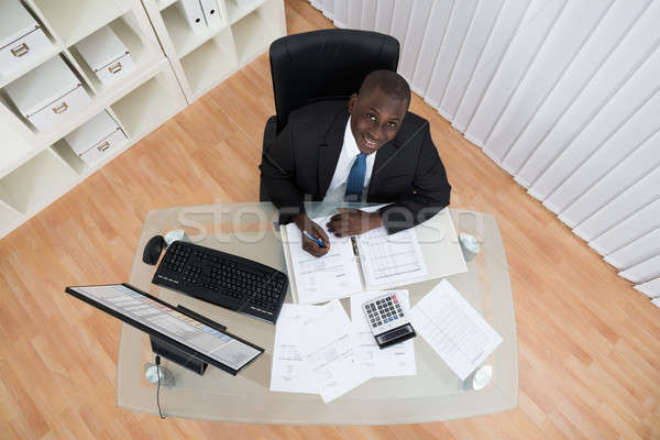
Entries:
<svg viewBox="0 0 660 440">
<path fill-rule="evenodd" d="M 48 59 L 4 88 L 19 111 L 40 131 L 85 108 L 91 99 L 59 57 Z"/>
</svg>

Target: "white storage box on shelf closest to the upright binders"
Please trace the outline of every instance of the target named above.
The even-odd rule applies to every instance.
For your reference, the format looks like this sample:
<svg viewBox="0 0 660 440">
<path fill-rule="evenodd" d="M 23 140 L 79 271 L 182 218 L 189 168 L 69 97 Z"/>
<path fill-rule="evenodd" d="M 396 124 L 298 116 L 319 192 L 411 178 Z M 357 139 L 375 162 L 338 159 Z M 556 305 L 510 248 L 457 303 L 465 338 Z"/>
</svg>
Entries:
<svg viewBox="0 0 660 440">
<path fill-rule="evenodd" d="M 76 44 L 76 48 L 103 85 L 135 69 L 131 52 L 110 26 L 103 26 Z"/>
</svg>

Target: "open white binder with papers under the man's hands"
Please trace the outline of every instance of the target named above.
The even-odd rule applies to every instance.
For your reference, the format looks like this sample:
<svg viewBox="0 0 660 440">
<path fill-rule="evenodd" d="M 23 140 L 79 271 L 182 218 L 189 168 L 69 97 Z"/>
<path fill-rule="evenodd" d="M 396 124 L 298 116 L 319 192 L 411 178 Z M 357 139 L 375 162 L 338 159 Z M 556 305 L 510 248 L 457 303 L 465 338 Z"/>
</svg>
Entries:
<svg viewBox="0 0 660 440">
<path fill-rule="evenodd" d="M 302 250 L 295 223 L 279 227 L 294 302 L 317 304 L 468 271 L 447 209 L 391 235 L 381 227 L 337 238 L 326 229 L 330 217 L 312 219 L 330 238 L 330 251 L 320 258 Z"/>
</svg>

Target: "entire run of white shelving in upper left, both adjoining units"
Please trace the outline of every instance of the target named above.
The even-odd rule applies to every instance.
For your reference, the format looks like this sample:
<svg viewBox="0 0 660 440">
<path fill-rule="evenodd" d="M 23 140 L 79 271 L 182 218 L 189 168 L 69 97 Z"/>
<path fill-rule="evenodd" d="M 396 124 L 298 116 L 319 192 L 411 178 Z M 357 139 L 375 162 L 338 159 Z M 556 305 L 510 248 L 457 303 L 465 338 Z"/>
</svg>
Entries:
<svg viewBox="0 0 660 440">
<path fill-rule="evenodd" d="M 42 23 L 53 47 L 0 75 L 0 238 L 286 35 L 283 0 L 218 0 L 221 22 L 201 34 L 188 28 L 178 0 L 21 1 Z M 110 85 L 98 80 L 75 47 L 102 26 L 112 29 L 136 65 Z M 40 132 L 4 88 L 55 56 L 65 59 L 91 101 Z M 118 122 L 127 141 L 89 166 L 65 136 L 102 111 Z"/>
</svg>

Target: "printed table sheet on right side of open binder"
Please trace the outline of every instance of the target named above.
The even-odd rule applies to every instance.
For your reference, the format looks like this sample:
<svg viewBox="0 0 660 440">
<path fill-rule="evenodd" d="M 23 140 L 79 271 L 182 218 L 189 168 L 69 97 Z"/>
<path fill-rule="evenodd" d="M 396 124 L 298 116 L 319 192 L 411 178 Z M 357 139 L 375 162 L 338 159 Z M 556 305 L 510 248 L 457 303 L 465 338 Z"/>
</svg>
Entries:
<svg viewBox="0 0 660 440">
<path fill-rule="evenodd" d="M 387 234 L 384 227 L 356 238 L 367 288 L 400 285 L 428 275 L 415 229 Z"/>
</svg>

